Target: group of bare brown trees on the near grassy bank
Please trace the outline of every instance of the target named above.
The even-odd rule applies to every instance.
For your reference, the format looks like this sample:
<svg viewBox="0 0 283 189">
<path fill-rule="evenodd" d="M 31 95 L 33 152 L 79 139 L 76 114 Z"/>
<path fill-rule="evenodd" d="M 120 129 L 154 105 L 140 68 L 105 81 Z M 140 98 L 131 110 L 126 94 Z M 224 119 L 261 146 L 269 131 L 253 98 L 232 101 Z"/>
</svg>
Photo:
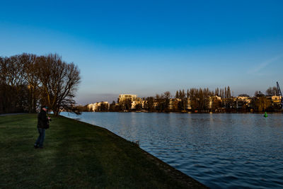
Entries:
<svg viewBox="0 0 283 189">
<path fill-rule="evenodd" d="M 35 113 L 43 104 L 54 115 L 79 113 L 74 96 L 80 80 L 79 68 L 57 54 L 0 57 L 0 113 Z"/>
</svg>

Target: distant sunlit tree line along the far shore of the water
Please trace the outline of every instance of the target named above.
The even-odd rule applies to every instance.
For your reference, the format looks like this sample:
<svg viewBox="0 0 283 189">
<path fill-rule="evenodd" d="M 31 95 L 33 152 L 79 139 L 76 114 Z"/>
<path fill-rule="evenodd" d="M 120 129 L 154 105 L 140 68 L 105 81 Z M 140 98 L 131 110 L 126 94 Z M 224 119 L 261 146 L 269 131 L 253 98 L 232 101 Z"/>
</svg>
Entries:
<svg viewBox="0 0 283 189">
<path fill-rule="evenodd" d="M 267 88 L 265 95 L 260 91 L 255 91 L 255 96 L 250 97 L 242 93 L 239 97 L 248 98 L 247 101 L 241 101 L 231 95 L 229 86 L 216 88 L 210 91 L 209 88 L 190 88 L 187 90 L 178 90 L 175 96 L 169 91 L 156 96 L 142 98 L 141 103 L 133 103 L 130 99 L 125 101 L 112 101 L 108 106 L 101 106 L 98 111 L 140 111 L 149 112 L 250 112 L 250 111 L 276 111 L 281 107 L 279 103 L 273 103 L 270 96 L 278 95 L 277 87 Z M 103 104 L 103 103 L 101 103 Z M 81 107 L 81 110 L 88 110 L 87 106 Z"/>
</svg>

